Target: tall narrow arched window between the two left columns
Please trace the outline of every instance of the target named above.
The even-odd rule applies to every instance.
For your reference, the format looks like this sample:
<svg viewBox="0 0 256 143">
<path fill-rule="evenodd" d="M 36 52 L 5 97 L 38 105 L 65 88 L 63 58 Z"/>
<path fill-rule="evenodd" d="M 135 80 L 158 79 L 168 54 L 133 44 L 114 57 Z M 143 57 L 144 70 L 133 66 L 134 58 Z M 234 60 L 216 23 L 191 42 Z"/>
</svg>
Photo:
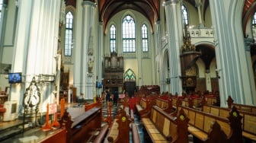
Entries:
<svg viewBox="0 0 256 143">
<path fill-rule="evenodd" d="M 64 56 L 71 56 L 72 51 L 72 35 L 73 35 L 73 14 L 69 11 L 66 14 L 66 32 L 65 32 L 65 48 L 64 48 Z"/>
</svg>

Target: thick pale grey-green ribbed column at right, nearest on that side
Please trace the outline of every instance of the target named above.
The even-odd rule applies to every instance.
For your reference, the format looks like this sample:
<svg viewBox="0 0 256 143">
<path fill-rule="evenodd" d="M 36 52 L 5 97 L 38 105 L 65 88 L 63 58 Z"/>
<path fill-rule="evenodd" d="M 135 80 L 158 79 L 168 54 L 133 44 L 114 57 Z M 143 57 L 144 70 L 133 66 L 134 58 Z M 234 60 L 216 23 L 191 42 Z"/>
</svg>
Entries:
<svg viewBox="0 0 256 143">
<path fill-rule="evenodd" d="M 255 104 L 255 87 L 251 84 L 251 59 L 248 60 L 242 32 L 241 14 L 244 0 L 210 1 L 216 46 L 221 106 L 232 96 L 235 103 Z"/>
</svg>

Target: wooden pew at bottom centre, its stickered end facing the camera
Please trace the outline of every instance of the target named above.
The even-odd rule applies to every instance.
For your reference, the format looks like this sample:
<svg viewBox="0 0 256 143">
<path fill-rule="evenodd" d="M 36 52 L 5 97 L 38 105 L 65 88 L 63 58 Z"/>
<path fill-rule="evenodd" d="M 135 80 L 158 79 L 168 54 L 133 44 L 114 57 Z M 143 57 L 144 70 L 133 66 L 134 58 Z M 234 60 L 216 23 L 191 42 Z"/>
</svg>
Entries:
<svg viewBox="0 0 256 143">
<path fill-rule="evenodd" d="M 123 142 L 130 143 L 130 124 L 132 125 L 132 135 L 133 142 L 139 143 L 139 133 L 138 130 L 134 127 L 134 123 L 131 123 L 130 116 L 126 114 L 126 111 L 120 110 L 120 112 L 115 116 L 114 122 L 109 129 L 107 134 L 108 142 Z M 133 125 L 134 124 L 134 125 Z M 105 142 L 107 142 L 105 141 Z"/>
</svg>

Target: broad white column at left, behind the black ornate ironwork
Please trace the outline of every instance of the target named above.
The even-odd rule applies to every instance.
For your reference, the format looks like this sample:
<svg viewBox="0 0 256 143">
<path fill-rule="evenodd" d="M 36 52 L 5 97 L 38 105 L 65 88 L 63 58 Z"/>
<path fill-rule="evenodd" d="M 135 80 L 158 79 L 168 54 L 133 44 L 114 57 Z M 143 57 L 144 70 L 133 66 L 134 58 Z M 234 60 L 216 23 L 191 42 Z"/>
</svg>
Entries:
<svg viewBox="0 0 256 143">
<path fill-rule="evenodd" d="M 11 84 L 11 100 L 20 100 L 35 75 L 55 75 L 61 1 L 18 1 L 18 19 L 11 71 L 22 72 L 22 84 Z M 54 83 L 42 84 L 42 102 L 50 100 Z M 44 105 L 40 105 L 44 106 Z"/>
</svg>

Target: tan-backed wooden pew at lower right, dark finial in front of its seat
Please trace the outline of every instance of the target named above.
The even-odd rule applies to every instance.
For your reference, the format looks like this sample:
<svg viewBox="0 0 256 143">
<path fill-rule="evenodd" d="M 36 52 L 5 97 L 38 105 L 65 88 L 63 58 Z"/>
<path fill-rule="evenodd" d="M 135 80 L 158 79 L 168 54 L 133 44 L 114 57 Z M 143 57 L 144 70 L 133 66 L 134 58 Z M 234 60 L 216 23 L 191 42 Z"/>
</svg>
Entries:
<svg viewBox="0 0 256 143">
<path fill-rule="evenodd" d="M 242 142 L 242 116 L 235 107 L 228 118 L 214 116 L 187 106 L 181 107 L 190 119 L 188 132 L 203 142 Z M 197 142 L 197 141 L 195 141 Z"/>
</svg>

